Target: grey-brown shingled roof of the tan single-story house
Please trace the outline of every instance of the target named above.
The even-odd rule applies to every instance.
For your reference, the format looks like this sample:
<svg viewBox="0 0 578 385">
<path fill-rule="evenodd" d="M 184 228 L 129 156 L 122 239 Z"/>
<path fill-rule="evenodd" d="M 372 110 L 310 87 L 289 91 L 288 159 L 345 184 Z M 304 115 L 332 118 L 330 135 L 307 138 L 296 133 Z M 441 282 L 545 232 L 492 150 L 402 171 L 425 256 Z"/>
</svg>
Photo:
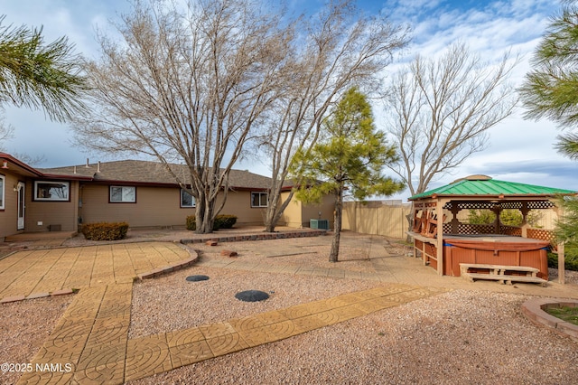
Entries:
<svg viewBox="0 0 578 385">
<path fill-rule="evenodd" d="M 185 183 L 190 182 L 188 170 L 184 164 L 171 164 L 177 175 L 182 175 Z M 172 174 L 168 173 L 162 164 L 140 160 L 123 160 L 102 162 L 100 164 L 80 164 L 67 167 L 38 169 L 50 177 L 91 177 L 95 182 L 112 183 L 150 183 L 176 185 Z M 231 170 L 228 178 L 229 188 L 235 189 L 266 189 L 271 179 L 249 173 L 243 170 Z"/>
</svg>

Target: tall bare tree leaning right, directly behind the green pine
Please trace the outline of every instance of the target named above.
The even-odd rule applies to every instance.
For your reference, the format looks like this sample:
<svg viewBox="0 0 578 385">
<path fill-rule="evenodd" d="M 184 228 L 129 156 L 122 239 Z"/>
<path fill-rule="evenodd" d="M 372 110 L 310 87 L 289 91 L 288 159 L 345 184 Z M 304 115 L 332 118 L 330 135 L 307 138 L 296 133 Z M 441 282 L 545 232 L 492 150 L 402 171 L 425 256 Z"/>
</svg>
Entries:
<svg viewBox="0 0 578 385">
<path fill-rule="evenodd" d="M 408 42 L 406 29 L 381 17 L 359 17 L 349 0 L 328 5 L 300 30 L 306 35 L 294 44 L 280 74 L 283 91 L 267 115 L 268 132 L 261 138 L 272 170 L 266 231 L 275 230 L 294 195 L 291 191 L 280 202 L 294 153 L 315 143 L 322 118 L 341 93 L 354 85 L 377 85 L 392 52 Z"/>
</svg>

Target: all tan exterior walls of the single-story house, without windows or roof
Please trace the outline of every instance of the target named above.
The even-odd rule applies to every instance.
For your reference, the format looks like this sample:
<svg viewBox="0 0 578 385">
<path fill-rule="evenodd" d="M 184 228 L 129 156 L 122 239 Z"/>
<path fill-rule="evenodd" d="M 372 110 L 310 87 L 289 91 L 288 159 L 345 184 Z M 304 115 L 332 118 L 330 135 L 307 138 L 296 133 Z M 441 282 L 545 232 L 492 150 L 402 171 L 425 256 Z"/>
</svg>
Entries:
<svg viewBox="0 0 578 385">
<path fill-rule="evenodd" d="M 136 186 L 135 203 L 111 203 L 109 185 L 70 181 L 70 202 L 34 202 L 33 179 L 5 173 L 5 207 L 0 211 L 0 238 L 17 232 L 17 194 L 13 186 L 18 180 L 25 182 L 25 232 L 48 231 L 50 225 L 61 225 L 61 230 L 79 229 L 83 223 L 98 221 L 127 221 L 135 227 L 184 227 L 186 217 L 195 213 L 194 208 L 180 207 L 180 189 L 175 187 Z M 284 192 L 285 199 L 288 192 Z M 279 222 L 280 226 L 309 227 L 311 219 L 330 221 L 333 228 L 333 197 L 325 197 L 320 204 L 303 205 L 293 199 Z M 251 207 L 251 192 L 229 192 L 221 214 L 238 217 L 240 226 L 262 226 L 265 208 Z M 41 224 L 39 224 L 41 223 Z"/>
</svg>

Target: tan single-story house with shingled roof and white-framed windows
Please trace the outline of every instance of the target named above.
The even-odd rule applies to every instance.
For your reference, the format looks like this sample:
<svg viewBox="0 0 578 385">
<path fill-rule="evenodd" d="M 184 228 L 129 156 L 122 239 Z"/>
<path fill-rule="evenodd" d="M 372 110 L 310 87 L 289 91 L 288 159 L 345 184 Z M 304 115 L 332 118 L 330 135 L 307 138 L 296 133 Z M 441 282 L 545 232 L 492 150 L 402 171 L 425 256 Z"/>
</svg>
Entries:
<svg viewBox="0 0 578 385">
<path fill-rule="evenodd" d="M 186 175 L 184 165 L 172 164 Z M 270 179 L 232 170 L 222 214 L 238 225 L 263 225 Z M 284 197 L 291 190 L 286 186 Z M 320 205 L 291 202 L 278 223 L 308 227 L 311 219 L 332 219 L 333 199 Z M 183 228 L 195 213 L 192 196 L 159 163 L 140 160 L 34 168 L 0 153 L 0 240 L 22 232 L 78 231 L 82 223 L 126 221 L 131 228 Z"/>
</svg>

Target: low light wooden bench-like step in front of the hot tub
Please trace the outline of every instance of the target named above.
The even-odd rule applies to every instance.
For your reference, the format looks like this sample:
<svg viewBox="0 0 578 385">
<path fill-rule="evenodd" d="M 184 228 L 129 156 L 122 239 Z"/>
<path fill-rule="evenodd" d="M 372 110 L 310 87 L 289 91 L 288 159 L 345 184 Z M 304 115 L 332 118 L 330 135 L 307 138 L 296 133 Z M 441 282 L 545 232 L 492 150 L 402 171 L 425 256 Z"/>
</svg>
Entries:
<svg viewBox="0 0 578 385">
<path fill-rule="evenodd" d="M 474 268 L 476 270 L 487 270 L 488 274 L 485 273 L 471 273 L 470 269 Z M 505 265 L 487 265 L 487 264 L 476 264 L 476 263 L 461 263 L 460 264 L 460 275 L 471 282 L 474 279 L 489 279 L 498 281 L 500 284 L 512 285 L 512 282 L 528 282 L 536 283 L 541 286 L 546 286 L 547 281 L 540 277 L 537 277 L 537 273 L 540 270 L 537 268 L 530 268 L 528 266 L 505 266 Z M 508 272 L 522 272 L 526 273 L 526 276 L 515 276 L 508 274 Z"/>
</svg>

